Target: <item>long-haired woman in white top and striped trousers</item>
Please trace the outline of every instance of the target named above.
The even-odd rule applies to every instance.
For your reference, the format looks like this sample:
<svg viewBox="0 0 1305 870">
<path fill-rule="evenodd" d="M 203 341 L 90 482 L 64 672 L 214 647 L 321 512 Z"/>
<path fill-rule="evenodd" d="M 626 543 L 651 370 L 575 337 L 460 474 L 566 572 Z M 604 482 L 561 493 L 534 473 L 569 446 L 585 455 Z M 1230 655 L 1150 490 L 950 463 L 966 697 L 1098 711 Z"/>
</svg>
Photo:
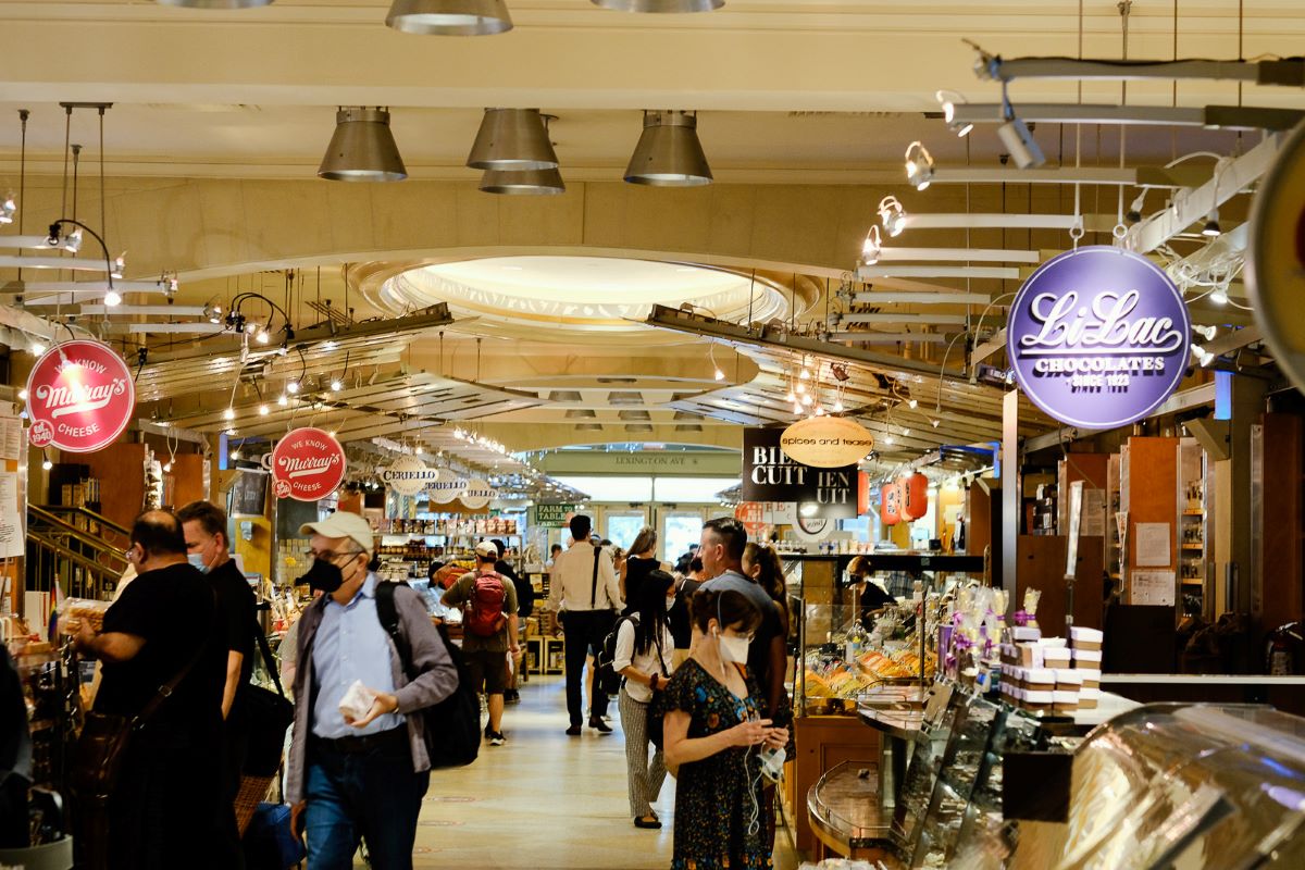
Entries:
<svg viewBox="0 0 1305 870">
<path fill-rule="evenodd" d="M 634 613 L 616 631 L 612 668 L 625 677 L 619 710 L 625 732 L 630 817 L 637 828 L 659 828 L 662 822 L 652 811 L 652 802 L 666 780 L 666 763 L 656 747 L 649 762 L 647 719 L 652 693 L 664 689 L 671 677 L 675 639 L 667 610 L 675 604 L 675 578 L 652 571 L 639 584 L 638 596 L 630 601 Z"/>
</svg>

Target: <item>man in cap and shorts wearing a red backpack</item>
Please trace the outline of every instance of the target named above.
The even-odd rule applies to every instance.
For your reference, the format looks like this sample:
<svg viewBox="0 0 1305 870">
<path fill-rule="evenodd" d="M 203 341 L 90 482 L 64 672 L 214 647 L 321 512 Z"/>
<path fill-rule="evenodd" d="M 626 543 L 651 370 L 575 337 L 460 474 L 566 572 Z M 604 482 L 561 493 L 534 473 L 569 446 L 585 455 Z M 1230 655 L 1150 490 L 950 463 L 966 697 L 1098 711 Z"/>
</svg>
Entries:
<svg viewBox="0 0 1305 870">
<path fill-rule="evenodd" d="M 444 593 L 448 607 L 465 605 L 462 655 L 476 691 L 484 686 L 489 703 L 485 740 L 502 746 L 502 694 L 508 690 L 508 657 L 517 644 L 517 587 L 495 570 L 499 548 L 493 541 L 476 544 L 476 570 L 463 575 Z"/>
</svg>

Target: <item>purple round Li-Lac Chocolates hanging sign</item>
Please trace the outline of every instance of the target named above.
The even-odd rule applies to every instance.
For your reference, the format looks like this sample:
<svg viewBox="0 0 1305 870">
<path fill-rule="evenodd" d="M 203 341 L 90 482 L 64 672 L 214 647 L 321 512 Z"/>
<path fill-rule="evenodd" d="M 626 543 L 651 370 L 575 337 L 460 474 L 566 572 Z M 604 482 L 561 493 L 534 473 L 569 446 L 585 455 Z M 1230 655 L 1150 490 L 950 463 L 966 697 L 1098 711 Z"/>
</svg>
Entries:
<svg viewBox="0 0 1305 870">
<path fill-rule="evenodd" d="M 1075 427 L 1112 429 L 1169 398 L 1188 368 L 1182 293 L 1146 257 L 1088 245 L 1048 260 L 1015 293 L 1006 355 L 1034 404 Z"/>
</svg>

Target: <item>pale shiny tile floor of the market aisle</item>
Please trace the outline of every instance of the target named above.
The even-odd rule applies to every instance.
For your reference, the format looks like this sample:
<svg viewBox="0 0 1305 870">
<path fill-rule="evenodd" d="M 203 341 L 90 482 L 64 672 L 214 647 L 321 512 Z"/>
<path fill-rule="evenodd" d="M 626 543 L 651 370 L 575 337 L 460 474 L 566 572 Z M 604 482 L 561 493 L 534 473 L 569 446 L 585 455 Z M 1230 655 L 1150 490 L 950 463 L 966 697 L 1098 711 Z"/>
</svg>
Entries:
<svg viewBox="0 0 1305 870">
<path fill-rule="evenodd" d="M 568 737 L 561 677 L 535 677 L 504 715 L 505 746 L 483 745 L 466 768 L 431 777 L 418 823 L 416 867 L 465 870 L 664 870 L 671 865 L 675 780 L 656 802 L 664 827 L 636 828 L 625 796 L 625 749 L 615 733 Z M 787 832 L 776 870 L 799 863 Z M 361 863 L 358 866 L 363 866 Z"/>
</svg>

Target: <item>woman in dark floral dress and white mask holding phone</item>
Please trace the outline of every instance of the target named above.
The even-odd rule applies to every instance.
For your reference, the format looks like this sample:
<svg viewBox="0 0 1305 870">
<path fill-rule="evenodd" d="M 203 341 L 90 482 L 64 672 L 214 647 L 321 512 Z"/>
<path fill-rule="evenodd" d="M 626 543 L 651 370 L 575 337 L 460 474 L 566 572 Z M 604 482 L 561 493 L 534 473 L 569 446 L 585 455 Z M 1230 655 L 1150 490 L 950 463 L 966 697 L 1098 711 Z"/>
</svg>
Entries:
<svg viewBox="0 0 1305 870">
<path fill-rule="evenodd" d="M 732 590 L 699 590 L 692 616 L 702 637 L 662 704 L 666 763 L 679 779 L 671 867 L 769 869 L 760 753 L 782 747 L 788 730 L 761 717 L 765 700 L 744 668 L 761 613 Z"/>
</svg>

